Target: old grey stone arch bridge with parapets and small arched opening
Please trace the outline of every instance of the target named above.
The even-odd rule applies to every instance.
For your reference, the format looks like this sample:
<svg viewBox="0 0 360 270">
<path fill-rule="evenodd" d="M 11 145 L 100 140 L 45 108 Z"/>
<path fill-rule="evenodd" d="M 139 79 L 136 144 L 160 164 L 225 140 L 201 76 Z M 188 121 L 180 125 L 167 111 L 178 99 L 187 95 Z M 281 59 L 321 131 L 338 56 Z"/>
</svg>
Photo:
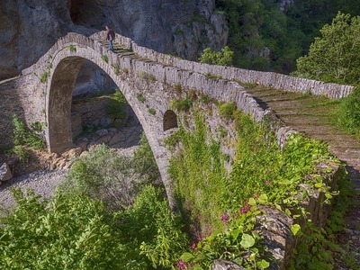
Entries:
<svg viewBox="0 0 360 270">
<path fill-rule="evenodd" d="M 62 152 L 72 147 L 71 101 L 77 73 L 85 59 L 102 68 L 118 85 L 136 113 L 149 145 L 157 160 L 166 187 L 169 203 L 174 203 L 167 175 L 170 153 L 163 139 L 177 127 L 177 115 L 171 101 L 184 98 L 190 91 L 207 94 L 222 102 L 235 102 L 239 110 L 250 113 L 260 121 L 269 109 L 247 94 L 243 83 L 270 85 L 278 89 L 311 94 L 326 94 L 331 98 L 347 95 L 351 86 L 324 84 L 275 73 L 257 72 L 235 67 L 219 67 L 195 63 L 139 47 L 132 40 L 116 34 L 115 51 L 107 49 L 105 32 L 85 37 L 68 33 L 39 59 L 23 70 L 16 79 L 14 94 L 17 105 L 27 122 L 46 121 L 46 141 L 51 152 Z M 139 96 L 142 96 L 139 99 Z M 291 129 L 277 121 L 279 141 Z M 1 135 L 7 128 L 2 124 Z M 4 136 L 3 136 L 4 138 Z"/>
</svg>

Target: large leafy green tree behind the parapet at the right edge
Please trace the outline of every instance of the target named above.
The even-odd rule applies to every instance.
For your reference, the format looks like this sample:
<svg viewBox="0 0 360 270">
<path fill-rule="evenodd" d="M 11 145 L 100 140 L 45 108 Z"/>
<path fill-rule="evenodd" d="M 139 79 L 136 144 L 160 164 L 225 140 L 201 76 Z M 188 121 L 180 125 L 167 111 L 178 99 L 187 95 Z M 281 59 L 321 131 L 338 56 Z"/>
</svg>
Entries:
<svg viewBox="0 0 360 270">
<path fill-rule="evenodd" d="M 297 60 L 298 76 L 325 82 L 355 85 L 360 70 L 360 17 L 338 13 L 331 24 L 320 30 L 309 54 Z"/>
</svg>

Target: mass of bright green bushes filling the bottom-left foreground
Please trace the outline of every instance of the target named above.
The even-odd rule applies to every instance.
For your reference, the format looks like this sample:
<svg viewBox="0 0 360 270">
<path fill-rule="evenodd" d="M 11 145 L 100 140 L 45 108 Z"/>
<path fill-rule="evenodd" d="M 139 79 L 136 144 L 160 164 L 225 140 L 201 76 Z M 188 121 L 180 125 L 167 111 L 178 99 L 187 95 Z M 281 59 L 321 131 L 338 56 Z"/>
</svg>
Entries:
<svg viewBox="0 0 360 270">
<path fill-rule="evenodd" d="M 188 240 L 163 192 L 144 186 L 132 206 L 109 212 L 71 190 L 48 201 L 15 189 L 14 211 L 0 209 L 0 268 L 171 269 Z"/>
</svg>

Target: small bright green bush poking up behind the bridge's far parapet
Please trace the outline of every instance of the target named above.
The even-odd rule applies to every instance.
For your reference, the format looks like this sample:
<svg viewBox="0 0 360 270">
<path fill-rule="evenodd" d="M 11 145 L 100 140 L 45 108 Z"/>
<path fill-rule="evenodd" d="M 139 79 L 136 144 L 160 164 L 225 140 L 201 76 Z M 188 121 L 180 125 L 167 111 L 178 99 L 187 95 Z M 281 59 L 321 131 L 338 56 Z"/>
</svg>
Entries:
<svg viewBox="0 0 360 270">
<path fill-rule="evenodd" d="M 234 52 L 228 46 L 225 46 L 218 52 L 212 51 L 211 48 L 204 49 L 199 60 L 200 63 L 229 66 L 233 57 Z"/>
</svg>

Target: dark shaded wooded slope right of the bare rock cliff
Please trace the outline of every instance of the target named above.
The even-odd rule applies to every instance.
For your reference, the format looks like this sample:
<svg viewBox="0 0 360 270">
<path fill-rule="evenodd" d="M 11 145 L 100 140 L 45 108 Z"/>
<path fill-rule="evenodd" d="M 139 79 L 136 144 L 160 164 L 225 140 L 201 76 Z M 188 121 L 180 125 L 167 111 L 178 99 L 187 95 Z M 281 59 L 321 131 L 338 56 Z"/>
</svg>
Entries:
<svg viewBox="0 0 360 270">
<path fill-rule="evenodd" d="M 217 13 L 229 26 L 229 48 L 236 67 L 290 73 L 296 59 L 309 50 L 325 23 L 338 11 L 358 15 L 353 0 L 292 1 L 279 9 L 279 1 L 219 0 Z"/>
</svg>

